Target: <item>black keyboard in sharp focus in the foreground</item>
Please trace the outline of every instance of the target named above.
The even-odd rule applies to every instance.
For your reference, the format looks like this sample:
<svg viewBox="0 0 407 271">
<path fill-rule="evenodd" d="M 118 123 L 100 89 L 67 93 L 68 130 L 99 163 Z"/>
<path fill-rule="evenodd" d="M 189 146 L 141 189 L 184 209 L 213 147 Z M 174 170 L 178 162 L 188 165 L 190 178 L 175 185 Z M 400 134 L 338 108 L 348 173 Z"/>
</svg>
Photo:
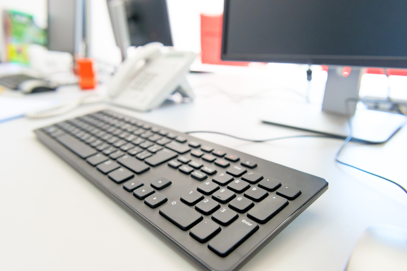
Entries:
<svg viewBox="0 0 407 271">
<path fill-rule="evenodd" d="M 328 189 L 324 179 L 112 111 L 35 133 L 210 270 L 240 268 Z"/>
</svg>

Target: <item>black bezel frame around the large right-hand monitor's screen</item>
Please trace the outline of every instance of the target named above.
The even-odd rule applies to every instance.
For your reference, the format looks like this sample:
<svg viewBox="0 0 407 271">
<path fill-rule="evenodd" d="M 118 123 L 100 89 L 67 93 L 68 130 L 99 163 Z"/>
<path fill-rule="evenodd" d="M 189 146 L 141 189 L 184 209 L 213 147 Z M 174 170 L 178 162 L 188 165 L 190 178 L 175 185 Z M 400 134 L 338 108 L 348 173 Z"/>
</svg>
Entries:
<svg viewBox="0 0 407 271">
<path fill-rule="evenodd" d="M 290 55 L 290 54 L 228 54 L 226 51 L 229 3 L 224 0 L 221 59 L 227 61 L 280 62 L 317 65 L 345 65 L 407 68 L 407 57 L 347 56 L 347 55 Z"/>
</svg>

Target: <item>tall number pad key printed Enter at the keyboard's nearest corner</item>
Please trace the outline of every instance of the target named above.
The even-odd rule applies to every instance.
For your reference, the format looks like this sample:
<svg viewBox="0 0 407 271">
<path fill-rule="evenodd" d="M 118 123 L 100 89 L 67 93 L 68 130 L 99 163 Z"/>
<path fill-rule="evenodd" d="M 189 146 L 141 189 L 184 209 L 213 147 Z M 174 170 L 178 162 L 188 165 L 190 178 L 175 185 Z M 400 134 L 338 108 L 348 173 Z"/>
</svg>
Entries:
<svg viewBox="0 0 407 271">
<path fill-rule="evenodd" d="M 241 217 L 228 228 L 222 230 L 208 244 L 208 248 L 221 257 L 226 257 L 230 252 L 234 251 L 250 235 L 258 229 L 257 223 Z"/>
</svg>

